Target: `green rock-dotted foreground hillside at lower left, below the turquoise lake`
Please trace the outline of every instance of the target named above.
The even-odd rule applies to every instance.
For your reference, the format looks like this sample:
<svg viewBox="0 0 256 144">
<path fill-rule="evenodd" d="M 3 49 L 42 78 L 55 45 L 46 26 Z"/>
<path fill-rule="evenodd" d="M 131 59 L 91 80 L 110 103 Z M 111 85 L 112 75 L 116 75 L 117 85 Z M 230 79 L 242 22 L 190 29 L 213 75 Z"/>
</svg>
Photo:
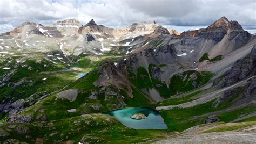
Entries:
<svg viewBox="0 0 256 144">
<path fill-rule="evenodd" d="M 17 134 L 15 129 L 23 129 L 26 134 Z M 0 137 L 0 141 L 15 138 L 20 142 L 35 143 L 42 138 L 44 143 L 59 143 L 68 140 L 74 143 L 137 143 L 167 136 L 166 130 L 132 129 L 125 127 L 108 114 L 86 114 L 83 116 L 32 124 L 4 124 L 0 128 L 10 133 Z M 25 131 L 25 129 L 29 129 Z M 84 141 L 83 141 L 84 140 Z"/>
</svg>

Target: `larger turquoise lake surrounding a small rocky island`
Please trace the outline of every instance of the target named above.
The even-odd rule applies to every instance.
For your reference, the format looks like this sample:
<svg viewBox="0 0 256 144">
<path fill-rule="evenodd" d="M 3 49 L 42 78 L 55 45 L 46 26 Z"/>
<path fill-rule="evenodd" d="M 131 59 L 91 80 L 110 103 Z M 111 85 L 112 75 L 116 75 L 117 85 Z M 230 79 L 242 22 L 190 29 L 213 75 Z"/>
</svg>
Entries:
<svg viewBox="0 0 256 144">
<path fill-rule="evenodd" d="M 132 119 L 133 114 L 143 113 L 147 118 Z M 147 108 L 126 108 L 106 112 L 119 120 L 123 125 L 134 129 L 167 129 L 164 119 L 153 109 Z"/>
</svg>

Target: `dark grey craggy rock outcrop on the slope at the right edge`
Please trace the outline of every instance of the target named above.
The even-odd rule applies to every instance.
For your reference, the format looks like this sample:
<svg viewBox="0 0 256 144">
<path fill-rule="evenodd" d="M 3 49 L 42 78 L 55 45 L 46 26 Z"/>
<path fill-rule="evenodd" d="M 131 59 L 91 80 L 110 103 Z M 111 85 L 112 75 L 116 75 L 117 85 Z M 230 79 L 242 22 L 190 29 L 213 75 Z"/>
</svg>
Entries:
<svg viewBox="0 0 256 144">
<path fill-rule="evenodd" d="M 225 76 L 222 87 L 227 87 L 235 82 L 238 82 L 248 75 L 255 75 L 256 68 L 256 45 L 253 46 L 252 51 L 243 59 L 234 63 L 233 67 L 229 69 Z"/>
</svg>

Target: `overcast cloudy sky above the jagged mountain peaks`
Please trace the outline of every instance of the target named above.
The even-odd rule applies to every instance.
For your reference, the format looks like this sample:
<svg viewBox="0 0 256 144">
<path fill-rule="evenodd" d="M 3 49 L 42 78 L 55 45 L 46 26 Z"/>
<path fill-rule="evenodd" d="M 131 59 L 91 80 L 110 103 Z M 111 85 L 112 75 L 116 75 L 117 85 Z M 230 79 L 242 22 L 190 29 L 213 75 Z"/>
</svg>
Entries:
<svg viewBox="0 0 256 144">
<path fill-rule="evenodd" d="M 24 20 L 50 25 L 69 18 L 82 24 L 93 18 L 112 28 L 154 19 L 183 32 L 206 27 L 223 16 L 256 33 L 255 0 L 0 0 L 0 33 Z"/>
</svg>

